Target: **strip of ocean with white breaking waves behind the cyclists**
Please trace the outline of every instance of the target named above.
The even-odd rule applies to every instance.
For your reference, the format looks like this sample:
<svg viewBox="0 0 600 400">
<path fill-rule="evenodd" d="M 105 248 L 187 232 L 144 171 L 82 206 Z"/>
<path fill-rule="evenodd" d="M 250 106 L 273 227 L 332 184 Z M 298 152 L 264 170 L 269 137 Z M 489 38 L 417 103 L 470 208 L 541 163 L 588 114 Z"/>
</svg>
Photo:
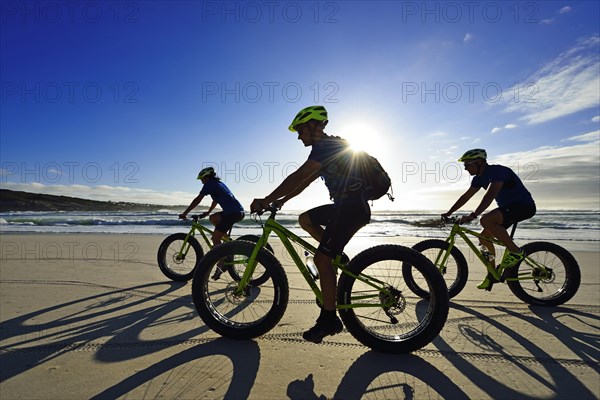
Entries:
<svg viewBox="0 0 600 400">
<path fill-rule="evenodd" d="M 177 218 L 177 212 L 5 212 L 0 213 L 1 233 L 130 233 L 169 235 L 184 232 L 190 222 Z M 298 225 L 299 212 L 280 211 L 277 220 L 300 236 L 306 236 Z M 263 220 L 266 219 L 264 215 Z M 371 223 L 357 236 L 446 236 L 440 229 L 439 213 L 424 211 L 373 212 Z M 204 222 L 210 226 L 209 222 Z M 478 230 L 479 225 L 472 224 Z M 237 223 L 234 236 L 260 233 L 260 225 L 251 217 Z M 517 238 L 522 240 L 560 240 L 598 242 L 600 245 L 600 212 L 598 210 L 538 210 L 537 214 L 519 223 Z"/>
</svg>

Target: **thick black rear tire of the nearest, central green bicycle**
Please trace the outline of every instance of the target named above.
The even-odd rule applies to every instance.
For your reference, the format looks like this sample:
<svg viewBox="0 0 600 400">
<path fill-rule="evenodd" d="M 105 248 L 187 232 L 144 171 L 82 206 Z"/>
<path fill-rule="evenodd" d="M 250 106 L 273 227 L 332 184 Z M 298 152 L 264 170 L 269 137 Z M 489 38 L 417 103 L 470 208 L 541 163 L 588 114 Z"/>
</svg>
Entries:
<svg viewBox="0 0 600 400">
<path fill-rule="evenodd" d="M 339 314 L 344 325 L 356 340 L 375 351 L 404 354 L 418 350 L 431 343 L 431 341 L 439 335 L 448 318 L 448 290 L 441 274 L 425 256 L 413 249 L 400 245 L 380 245 L 371 247 L 354 257 L 348 264 L 348 269 L 353 274 L 358 275 L 367 267 L 378 262 L 384 262 L 386 264 L 391 262 L 391 264 L 390 268 L 385 272 L 378 274 L 377 278 L 386 281 L 391 287 L 397 289 L 399 293 L 401 293 L 402 298 L 406 301 L 405 306 L 409 306 L 410 302 L 413 302 L 416 310 L 420 304 L 425 308 L 425 310 L 421 311 L 425 312 L 421 314 L 417 312 L 417 319 L 419 319 L 419 321 L 415 329 L 402 333 L 388 333 L 386 335 L 385 329 L 388 326 L 406 326 L 407 324 L 405 322 L 412 318 L 410 315 L 411 313 L 407 312 L 407 307 L 400 313 L 397 313 L 398 317 L 402 319 L 401 325 L 398 325 L 397 323 L 392 324 L 390 321 L 386 324 L 385 320 L 376 320 L 375 323 L 377 325 L 374 325 L 374 328 L 378 329 L 383 327 L 384 333 L 373 332 L 370 327 L 363 324 L 360 319 L 361 317 L 356 314 L 356 312 L 361 313 L 361 308 L 340 309 Z M 412 294 L 412 292 L 406 286 L 406 283 L 402 278 L 400 265 L 396 267 L 396 262 L 409 263 L 413 268 L 416 268 L 421 272 L 424 279 L 429 282 L 432 288 L 428 299 L 406 297 L 407 293 Z M 369 272 L 367 272 L 367 275 L 372 275 Z M 356 293 L 356 295 L 363 294 L 361 291 L 362 288 L 355 288 L 357 282 L 360 281 L 348 274 L 341 275 L 337 294 L 339 305 L 352 304 L 352 294 L 354 290 L 360 291 L 359 293 Z M 361 283 L 357 286 L 360 285 Z M 369 309 L 373 310 L 373 312 L 371 312 L 372 316 L 381 318 L 381 314 L 383 314 L 381 308 Z M 365 321 L 367 323 L 373 323 L 371 315 L 365 316 Z M 385 325 L 385 327 L 383 325 Z M 414 323 L 410 322 L 409 325 L 414 325 Z"/>
</svg>

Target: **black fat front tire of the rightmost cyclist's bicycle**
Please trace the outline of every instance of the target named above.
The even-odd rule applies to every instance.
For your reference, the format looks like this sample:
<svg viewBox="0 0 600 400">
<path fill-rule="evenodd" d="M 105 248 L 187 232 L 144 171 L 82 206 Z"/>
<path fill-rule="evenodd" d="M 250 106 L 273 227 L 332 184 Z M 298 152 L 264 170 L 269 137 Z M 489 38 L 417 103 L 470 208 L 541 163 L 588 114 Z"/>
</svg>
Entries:
<svg viewBox="0 0 600 400">
<path fill-rule="evenodd" d="M 439 239 L 428 239 L 415 244 L 412 248 L 423 254 L 425 251 L 431 249 L 446 250 L 448 249 L 448 243 Z M 465 256 L 458 248 L 454 246 L 452 247 L 452 250 L 450 250 L 450 257 L 454 259 L 454 263 L 456 265 L 456 276 L 453 278 L 445 273 L 442 273 L 442 276 L 446 281 L 446 286 L 448 286 L 448 297 L 453 298 L 465 288 L 465 285 L 469 280 L 469 266 Z M 430 259 L 430 261 L 435 263 L 435 259 Z M 435 267 L 440 270 L 439 266 L 436 265 Z M 413 291 L 414 294 L 424 299 L 429 297 L 429 292 L 415 282 L 410 264 L 404 264 L 402 266 L 402 273 L 404 274 L 406 285 L 410 288 L 410 290 Z"/>
</svg>

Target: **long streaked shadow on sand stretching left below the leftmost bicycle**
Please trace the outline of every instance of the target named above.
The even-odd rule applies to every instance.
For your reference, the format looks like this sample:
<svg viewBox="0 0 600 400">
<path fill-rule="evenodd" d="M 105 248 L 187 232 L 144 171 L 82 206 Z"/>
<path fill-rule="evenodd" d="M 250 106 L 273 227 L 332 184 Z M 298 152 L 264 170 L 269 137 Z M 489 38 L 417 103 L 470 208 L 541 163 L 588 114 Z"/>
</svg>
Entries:
<svg viewBox="0 0 600 400">
<path fill-rule="evenodd" d="M 149 289 L 165 285 L 164 290 L 148 293 Z M 142 332 L 150 326 L 197 319 L 190 295 L 172 295 L 180 287 L 180 283 L 160 282 L 115 289 L 2 321 L 0 337 L 9 344 L 0 346 L 0 352 L 3 358 L 12 357 L 14 362 L 3 363 L 0 382 L 76 348 L 96 345 L 99 347 L 95 352 L 97 360 L 116 362 L 148 355 L 164 348 L 165 344 L 182 342 L 206 332 L 204 325 L 197 327 L 196 324 L 193 329 L 169 337 L 141 338 Z M 141 295 L 136 293 L 139 291 Z M 165 300 L 165 296 L 172 299 Z M 39 323 L 40 320 L 48 322 Z M 98 338 L 103 337 L 110 339 L 100 346 Z M 142 345 L 132 346 L 128 352 L 111 350 L 114 345 L 132 342 Z"/>
</svg>

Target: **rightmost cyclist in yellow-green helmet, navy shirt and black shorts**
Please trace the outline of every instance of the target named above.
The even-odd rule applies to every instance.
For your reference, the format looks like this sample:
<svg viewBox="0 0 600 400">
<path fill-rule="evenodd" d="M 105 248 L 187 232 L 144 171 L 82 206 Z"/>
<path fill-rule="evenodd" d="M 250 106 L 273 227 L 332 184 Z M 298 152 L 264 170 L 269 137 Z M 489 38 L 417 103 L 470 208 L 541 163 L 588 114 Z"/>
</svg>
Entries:
<svg viewBox="0 0 600 400">
<path fill-rule="evenodd" d="M 488 164 L 487 152 L 484 149 L 468 150 L 458 161 L 464 163 L 465 169 L 473 176 L 473 180 L 469 189 L 460 196 L 448 212 L 442 214 L 442 217 L 450 216 L 465 205 L 479 189 L 486 189 L 479 206 L 468 216 L 462 217 L 461 222 L 471 222 L 481 215 L 492 201 L 496 200 L 498 208 L 481 216 L 479 221 L 483 226 L 481 234 L 486 237 L 495 237 L 506 245 L 508 251 L 499 265 L 500 269 L 515 266 L 525 257 L 525 253 L 511 239 L 507 228 L 535 215 L 536 207 L 531 193 L 513 170 L 503 165 Z M 494 245 L 491 242 L 482 240 L 481 244 L 495 256 Z M 493 283 L 492 278 L 487 276 L 477 287 L 490 290 Z"/>
</svg>

